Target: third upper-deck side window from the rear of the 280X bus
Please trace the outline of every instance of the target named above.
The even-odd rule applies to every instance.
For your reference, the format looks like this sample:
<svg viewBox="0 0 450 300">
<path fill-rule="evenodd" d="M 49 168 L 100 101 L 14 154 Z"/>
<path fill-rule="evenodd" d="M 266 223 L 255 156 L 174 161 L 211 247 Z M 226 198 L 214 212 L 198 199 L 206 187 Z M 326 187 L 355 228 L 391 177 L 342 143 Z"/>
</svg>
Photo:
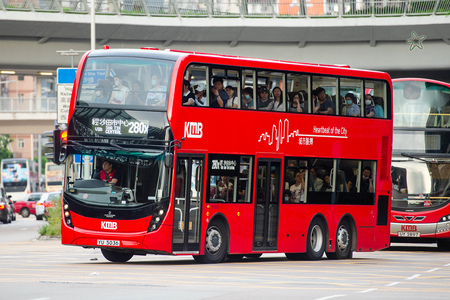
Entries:
<svg viewBox="0 0 450 300">
<path fill-rule="evenodd" d="M 321 88 L 321 89 L 320 89 Z M 313 76 L 312 78 L 312 89 L 316 92 L 318 90 L 325 90 L 325 99 L 323 103 L 319 103 L 317 101 L 314 103 L 313 112 L 321 113 L 325 111 L 329 111 L 328 108 L 332 108 L 332 115 L 339 115 L 339 105 L 336 101 L 337 96 L 337 78 L 335 77 L 325 77 L 325 76 Z M 332 104 L 331 104 L 331 103 Z"/>
</svg>

